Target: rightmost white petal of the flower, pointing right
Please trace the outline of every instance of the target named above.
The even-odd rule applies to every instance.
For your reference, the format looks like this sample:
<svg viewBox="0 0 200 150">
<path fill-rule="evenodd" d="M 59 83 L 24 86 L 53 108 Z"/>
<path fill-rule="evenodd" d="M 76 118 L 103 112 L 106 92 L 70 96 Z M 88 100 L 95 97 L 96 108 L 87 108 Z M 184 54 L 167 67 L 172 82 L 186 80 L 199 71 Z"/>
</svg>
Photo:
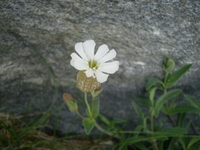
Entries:
<svg viewBox="0 0 200 150">
<path fill-rule="evenodd" d="M 103 63 L 99 66 L 99 70 L 105 73 L 113 74 L 119 69 L 119 61 Z"/>
</svg>

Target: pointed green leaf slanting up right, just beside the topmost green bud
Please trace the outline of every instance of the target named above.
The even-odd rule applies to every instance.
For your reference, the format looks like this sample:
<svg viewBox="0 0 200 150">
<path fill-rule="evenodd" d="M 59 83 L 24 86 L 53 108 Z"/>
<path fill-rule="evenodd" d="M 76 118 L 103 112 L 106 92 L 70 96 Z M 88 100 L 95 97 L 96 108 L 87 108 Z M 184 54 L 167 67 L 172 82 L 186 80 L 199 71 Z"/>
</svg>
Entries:
<svg viewBox="0 0 200 150">
<path fill-rule="evenodd" d="M 167 78 L 167 83 L 165 85 L 166 88 L 172 87 L 174 84 L 178 82 L 178 80 L 190 69 L 192 64 L 186 65 L 181 69 L 175 71 L 174 73 L 170 74 Z"/>
</svg>

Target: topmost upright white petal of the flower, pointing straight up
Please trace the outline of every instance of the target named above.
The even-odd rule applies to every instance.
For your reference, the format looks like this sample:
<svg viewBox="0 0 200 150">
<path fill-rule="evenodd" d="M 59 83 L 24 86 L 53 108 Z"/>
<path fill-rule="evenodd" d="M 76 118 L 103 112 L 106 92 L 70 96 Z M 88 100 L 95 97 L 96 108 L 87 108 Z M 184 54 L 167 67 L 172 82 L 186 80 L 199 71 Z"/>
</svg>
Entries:
<svg viewBox="0 0 200 150">
<path fill-rule="evenodd" d="M 85 54 L 89 57 L 88 59 L 94 58 L 95 45 L 96 44 L 93 40 L 88 40 L 83 43 L 83 49 L 85 51 Z"/>
</svg>

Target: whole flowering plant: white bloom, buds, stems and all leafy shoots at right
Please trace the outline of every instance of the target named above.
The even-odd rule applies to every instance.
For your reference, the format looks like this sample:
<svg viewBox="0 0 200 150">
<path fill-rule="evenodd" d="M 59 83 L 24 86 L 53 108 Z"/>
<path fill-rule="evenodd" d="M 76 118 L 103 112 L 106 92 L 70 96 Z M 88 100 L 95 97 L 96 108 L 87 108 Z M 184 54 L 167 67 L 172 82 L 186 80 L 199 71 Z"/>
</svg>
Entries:
<svg viewBox="0 0 200 150">
<path fill-rule="evenodd" d="M 70 94 L 63 94 L 64 102 L 69 110 L 76 112 L 83 119 L 82 123 L 86 134 L 97 127 L 101 132 L 118 138 L 120 150 L 126 150 L 128 146 L 144 150 L 190 150 L 199 143 L 199 136 L 188 134 L 192 123 L 189 122 L 185 125 L 185 118 L 187 113 L 199 114 L 200 103 L 193 97 L 185 95 L 189 103 L 177 105 L 176 101 L 180 99 L 182 89 L 173 87 L 190 69 L 191 64 L 174 71 L 175 62 L 165 58 L 163 80 L 154 77 L 148 78 L 146 84 L 148 98 L 135 98 L 136 101 L 132 102 L 133 109 L 140 119 L 139 125 L 134 131 L 122 131 L 123 128 L 117 127 L 117 124 L 124 123 L 124 120 L 110 121 L 99 113 L 98 95 L 102 92 L 101 83 L 105 82 L 109 74 L 115 73 L 119 68 L 118 61 L 106 61 L 112 60 L 116 56 L 116 52 L 115 50 L 109 51 L 107 45 L 104 44 L 94 55 L 94 48 L 93 40 L 77 43 L 75 45 L 77 53 L 71 54 L 72 60 L 70 61 L 70 64 L 79 70 L 77 86 L 84 93 L 86 113 L 80 114 L 77 101 Z M 91 94 L 91 101 L 88 101 L 88 93 Z M 148 113 L 143 112 L 137 103 L 146 106 L 149 110 Z M 161 113 L 168 116 L 172 123 L 171 127 L 165 128 L 163 125 L 165 121 L 156 122 Z M 178 117 L 174 117 L 174 115 Z M 97 123 L 97 118 L 107 126 L 106 129 Z M 126 133 L 131 133 L 131 135 L 127 137 Z"/>
</svg>

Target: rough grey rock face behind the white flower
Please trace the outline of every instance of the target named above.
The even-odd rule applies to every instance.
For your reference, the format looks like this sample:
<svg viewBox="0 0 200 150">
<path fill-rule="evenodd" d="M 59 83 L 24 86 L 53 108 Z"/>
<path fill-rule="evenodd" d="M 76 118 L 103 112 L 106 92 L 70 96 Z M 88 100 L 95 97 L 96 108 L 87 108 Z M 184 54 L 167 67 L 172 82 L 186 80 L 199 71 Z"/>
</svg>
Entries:
<svg viewBox="0 0 200 150">
<path fill-rule="evenodd" d="M 0 111 L 21 114 L 32 102 L 30 112 L 44 112 L 55 101 L 51 122 L 82 133 L 81 120 L 73 123 L 61 105 L 64 92 L 84 104 L 69 62 L 74 45 L 88 39 L 114 48 L 120 61 L 100 96 L 107 117 L 134 120 L 131 101 L 147 77 L 162 78 L 164 56 L 177 68 L 193 64 L 177 87 L 200 98 L 199 30 L 199 0 L 1 0 Z"/>
</svg>

